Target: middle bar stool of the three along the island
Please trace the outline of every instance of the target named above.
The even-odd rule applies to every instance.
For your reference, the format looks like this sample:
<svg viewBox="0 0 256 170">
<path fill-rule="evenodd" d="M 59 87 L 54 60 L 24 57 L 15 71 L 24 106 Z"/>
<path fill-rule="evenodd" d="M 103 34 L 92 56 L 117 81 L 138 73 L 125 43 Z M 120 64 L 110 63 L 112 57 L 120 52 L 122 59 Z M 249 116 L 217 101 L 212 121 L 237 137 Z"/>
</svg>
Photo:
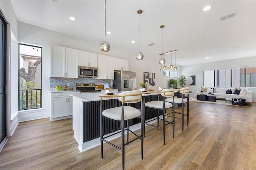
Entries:
<svg viewBox="0 0 256 170">
<path fill-rule="evenodd" d="M 150 93 L 154 93 L 154 92 L 150 92 Z M 168 124 L 172 124 L 172 137 L 174 138 L 174 107 L 172 105 L 172 103 L 166 102 L 166 98 L 173 100 L 174 101 L 174 90 L 173 89 L 164 89 L 161 92 L 155 92 L 155 93 L 160 93 L 163 96 L 163 101 L 161 101 L 159 99 L 159 94 L 158 94 L 158 99 L 156 101 L 150 101 L 150 102 L 146 102 L 145 103 L 145 98 L 144 98 L 144 117 L 145 117 L 145 108 L 152 108 L 152 109 L 157 109 L 157 117 L 155 119 L 151 119 L 148 121 L 144 120 L 144 135 L 145 135 L 145 125 L 148 126 L 152 126 L 152 127 L 156 127 L 157 130 L 159 128 L 163 129 L 163 135 L 164 135 L 164 145 L 165 145 L 165 126 Z M 144 94 L 145 97 L 145 94 Z M 166 121 L 165 117 L 166 117 L 166 109 L 171 108 L 172 107 L 172 121 Z M 162 110 L 163 111 L 163 119 L 159 118 L 159 111 Z M 149 122 L 157 120 L 157 126 L 149 124 Z M 159 127 L 159 120 L 163 121 L 163 127 Z"/>
</svg>

